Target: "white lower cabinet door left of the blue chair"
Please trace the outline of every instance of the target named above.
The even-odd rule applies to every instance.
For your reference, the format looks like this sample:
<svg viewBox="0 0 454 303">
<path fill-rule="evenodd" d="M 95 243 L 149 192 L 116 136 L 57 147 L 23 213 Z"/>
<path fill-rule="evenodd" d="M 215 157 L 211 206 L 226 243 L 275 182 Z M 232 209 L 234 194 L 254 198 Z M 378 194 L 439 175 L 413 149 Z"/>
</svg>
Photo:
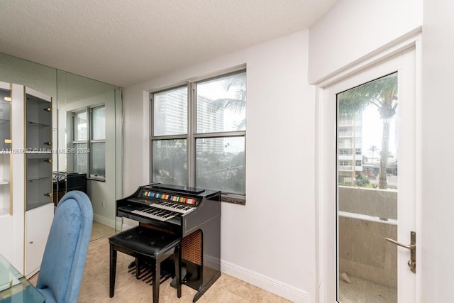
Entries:
<svg viewBox="0 0 454 303">
<path fill-rule="evenodd" d="M 52 203 L 26 211 L 25 275 L 27 278 L 40 270 L 53 215 L 54 204 Z"/>
</svg>

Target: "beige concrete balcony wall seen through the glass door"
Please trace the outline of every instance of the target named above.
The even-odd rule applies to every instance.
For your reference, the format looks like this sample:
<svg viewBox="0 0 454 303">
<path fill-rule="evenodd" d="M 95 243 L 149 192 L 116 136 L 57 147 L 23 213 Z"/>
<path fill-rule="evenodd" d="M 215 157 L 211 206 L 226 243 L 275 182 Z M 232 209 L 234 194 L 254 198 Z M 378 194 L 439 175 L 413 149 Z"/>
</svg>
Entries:
<svg viewBox="0 0 454 303">
<path fill-rule="evenodd" d="M 397 285 L 397 190 L 338 187 L 339 271 Z"/>
</svg>

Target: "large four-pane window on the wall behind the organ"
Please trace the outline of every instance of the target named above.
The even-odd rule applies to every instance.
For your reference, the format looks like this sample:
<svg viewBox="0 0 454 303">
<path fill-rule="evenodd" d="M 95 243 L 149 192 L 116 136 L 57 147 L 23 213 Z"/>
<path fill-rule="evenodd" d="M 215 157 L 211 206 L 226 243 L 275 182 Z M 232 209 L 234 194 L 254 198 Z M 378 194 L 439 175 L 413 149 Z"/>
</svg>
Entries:
<svg viewBox="0 0 454 303">
<path fill-rule="evenodd" d="M 189 93 L 188 93 L 189 92 Z M 246 73 L 151 94 L 151 180 L 245 201 Z"/>
</svg>

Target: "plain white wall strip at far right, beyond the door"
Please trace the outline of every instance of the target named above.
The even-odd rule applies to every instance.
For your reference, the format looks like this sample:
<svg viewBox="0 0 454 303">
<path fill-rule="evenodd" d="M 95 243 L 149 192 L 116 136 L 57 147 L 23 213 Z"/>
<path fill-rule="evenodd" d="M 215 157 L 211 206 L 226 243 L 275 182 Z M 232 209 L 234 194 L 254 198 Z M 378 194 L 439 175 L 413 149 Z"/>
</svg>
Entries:
<svg viewBox="0 0 454 303">
<path fill-rule="evenodd" d="M 454 2 L 424 1 L 421 302 L 453 300 Z"/>
</svg>

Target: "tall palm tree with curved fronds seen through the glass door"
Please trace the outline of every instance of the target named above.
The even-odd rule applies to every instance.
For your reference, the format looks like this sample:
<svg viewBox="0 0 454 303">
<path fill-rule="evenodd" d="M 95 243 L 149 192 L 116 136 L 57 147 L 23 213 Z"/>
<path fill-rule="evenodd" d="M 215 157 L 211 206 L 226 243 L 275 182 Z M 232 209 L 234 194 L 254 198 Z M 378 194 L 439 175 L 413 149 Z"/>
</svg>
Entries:
<svg viewBox="0 0 454 303">
<path fill-rule="evenodd" d="M 338 102 L 339 115 L 346 117 L 361 114 L 370 104 L 377 107 L 383 126 L 378 187 L 386 189 L 387 158 L 389 155 L 389 122 L 396 114 L 398 104 L 397 72 L 338 94 Z"/>
</svg>

